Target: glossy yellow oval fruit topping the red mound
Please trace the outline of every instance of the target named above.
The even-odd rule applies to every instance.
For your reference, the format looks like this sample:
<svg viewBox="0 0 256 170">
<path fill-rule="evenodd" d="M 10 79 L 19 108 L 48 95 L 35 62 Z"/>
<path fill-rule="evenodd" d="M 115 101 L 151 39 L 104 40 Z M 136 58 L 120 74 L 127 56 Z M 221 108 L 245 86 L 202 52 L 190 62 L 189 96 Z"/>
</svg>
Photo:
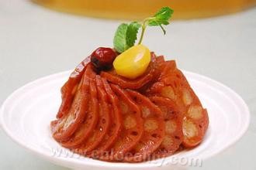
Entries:
<svg viewBox="0 0 256 170">
<path fill-rule="evenodd" d="M 144 45 L 132 46 L 114 60 L 116 73 L 129 79 L 141 76 L 150 63 L 150 50 Z"/>
</svg>

